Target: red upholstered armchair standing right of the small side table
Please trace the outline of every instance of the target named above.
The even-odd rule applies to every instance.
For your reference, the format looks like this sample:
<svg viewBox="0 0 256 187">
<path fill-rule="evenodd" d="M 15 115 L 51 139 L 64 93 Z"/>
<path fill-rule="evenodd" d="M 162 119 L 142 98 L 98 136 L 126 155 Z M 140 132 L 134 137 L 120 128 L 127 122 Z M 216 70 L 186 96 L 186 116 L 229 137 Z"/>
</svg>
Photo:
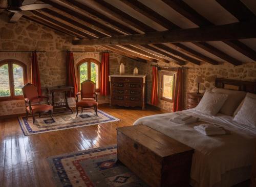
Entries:
<svg viewBox="0 0 256 187">
<path fill-rule="evenodd" d="M 96 116 L 98 116 L 98 94 L 95 88 L 95 83 L 89 79 L 81 83 L 81 92 L 76 95 L 76 116 L 78 115 L 78 107 L 81 107 L 81 111 L 83 108 L 94 108 Z M 80 101 L 78 101 L 79 95 L 81 96 Z"/>
</svg>

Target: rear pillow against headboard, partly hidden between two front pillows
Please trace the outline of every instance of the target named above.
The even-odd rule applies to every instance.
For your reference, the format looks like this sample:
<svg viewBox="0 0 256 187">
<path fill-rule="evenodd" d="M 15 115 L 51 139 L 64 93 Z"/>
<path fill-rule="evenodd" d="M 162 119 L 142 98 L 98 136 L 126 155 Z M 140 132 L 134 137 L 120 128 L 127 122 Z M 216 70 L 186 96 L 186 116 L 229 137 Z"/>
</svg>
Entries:
<svg viewBox="0 0 256 187">
<path fill-rule="evenodd" d="M 211 91 L 214 93 L 224 93 L 228 95 L 227 100 L 220 109 L 220 113 L 231 116 L 233 115 L 234 111 L 238 108 L 239 104 L 245 98 L 246 95 L 245 91 L 230 90 L 223 88 L 214 88 Z"/>
</svg>

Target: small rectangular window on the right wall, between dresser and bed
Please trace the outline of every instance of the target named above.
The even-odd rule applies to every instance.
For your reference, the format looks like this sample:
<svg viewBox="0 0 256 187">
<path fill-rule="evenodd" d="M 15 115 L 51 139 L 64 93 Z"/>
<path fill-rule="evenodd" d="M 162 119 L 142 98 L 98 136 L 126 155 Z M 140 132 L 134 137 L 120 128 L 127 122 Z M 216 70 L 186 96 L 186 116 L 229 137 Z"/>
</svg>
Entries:
<svg viewBox="0 0 256 187">
<path fill-rule="evenodd" d="M 175 74 L 161 72 L 161 100 L 173 102 Z"/>
</svg>

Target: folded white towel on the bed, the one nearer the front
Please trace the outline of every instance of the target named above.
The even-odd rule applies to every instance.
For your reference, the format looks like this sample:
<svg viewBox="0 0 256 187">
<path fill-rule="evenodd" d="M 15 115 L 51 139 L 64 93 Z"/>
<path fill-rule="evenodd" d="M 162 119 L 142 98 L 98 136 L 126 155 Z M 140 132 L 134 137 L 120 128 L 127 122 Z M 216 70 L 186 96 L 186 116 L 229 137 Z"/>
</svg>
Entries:
<svg viewBox="0 0 256 187">
<path fill-rule="evenodd" d="M 216 124 L 201 124 L 201 125 L 195 126 L 194 129 L 206 136 L 230 134 L 230 131 Z"/>
</svg>

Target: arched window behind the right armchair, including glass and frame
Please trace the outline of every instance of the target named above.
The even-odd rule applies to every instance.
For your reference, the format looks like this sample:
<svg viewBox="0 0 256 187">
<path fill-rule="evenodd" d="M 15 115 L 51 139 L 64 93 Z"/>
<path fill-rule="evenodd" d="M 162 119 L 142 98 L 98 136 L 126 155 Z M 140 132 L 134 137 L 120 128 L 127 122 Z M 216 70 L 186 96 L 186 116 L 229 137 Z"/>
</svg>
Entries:
<svg viewBox="0 0 256 187">
<path fill-rule="evenodd" d="M 79 90 L 81 87 L 81 82 L 90 79 L 96 83 L 96 91 L 99 91 L 100 63 L 95 59 L 87 58 L 81 60 L 77 67 Z"/>
</svg>

